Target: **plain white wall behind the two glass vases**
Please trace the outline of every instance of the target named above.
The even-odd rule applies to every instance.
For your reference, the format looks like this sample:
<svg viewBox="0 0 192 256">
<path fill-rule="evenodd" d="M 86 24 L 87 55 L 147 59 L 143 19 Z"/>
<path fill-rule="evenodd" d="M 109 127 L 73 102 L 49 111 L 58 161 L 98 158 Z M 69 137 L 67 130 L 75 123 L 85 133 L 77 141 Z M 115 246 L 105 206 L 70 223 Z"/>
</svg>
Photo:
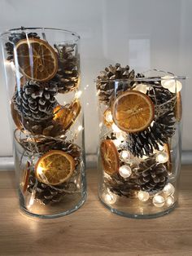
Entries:
<svg viewBox="0 0 192 256">
<path fill-rule="evenodd" d="M 0 31 L 55 27 L 81 35 L 86 151 L 96 152 L 98 120 L 94 78 L 108 64 L 137 71 L 160 68 L 190 78 L 185 90 L 183 149 L 192 149 L 191 0 L 0 0 Z M 0 80 L 0 156 L 11 155 L 5 90 Z"/>
</svg>

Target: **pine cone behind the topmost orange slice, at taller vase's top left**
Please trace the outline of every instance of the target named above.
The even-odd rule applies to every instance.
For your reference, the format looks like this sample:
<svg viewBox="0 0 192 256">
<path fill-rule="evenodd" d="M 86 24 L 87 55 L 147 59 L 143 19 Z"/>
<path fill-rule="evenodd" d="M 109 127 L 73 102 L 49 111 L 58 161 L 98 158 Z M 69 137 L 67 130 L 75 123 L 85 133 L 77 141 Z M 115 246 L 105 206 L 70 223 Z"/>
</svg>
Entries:
<svg viewBox="0 0 192 256">
<path fill-rule="evenodd" d="M 22 29 L 22 27 L 21 27 Z M 23 28 L 24 29 L 24 28 Z M 37 33 L 11 33 L 9 36 L 9 41 L 5 44 L 7 54 L 9 55 L 7 57 L 7 60 L 13 60 L 14 59 L 14 46 L 17 42 L 20 40 L 26 39 L 26 38 L 40 38 Z"/>
</svg>

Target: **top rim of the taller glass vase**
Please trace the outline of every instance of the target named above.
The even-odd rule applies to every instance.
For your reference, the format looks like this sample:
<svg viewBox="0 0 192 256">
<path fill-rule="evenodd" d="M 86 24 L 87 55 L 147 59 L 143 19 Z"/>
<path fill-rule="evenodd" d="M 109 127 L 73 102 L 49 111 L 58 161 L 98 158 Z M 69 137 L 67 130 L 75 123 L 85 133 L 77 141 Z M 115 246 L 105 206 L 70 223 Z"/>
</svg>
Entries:
<svg viewBox="0 0 192 256">
<path fill-rule="evenodd" d="M 15 33 L 15 31 L 20 31 L 20 32 L 24 32 L 26 30 L 35 30 L 35 29 L 41 29 L 41 30 L 55 30 L 55 31 L 59 31 L 59 32 L 63 32 L 63 33 L 68 33 L 71 34 L 73 37 L 75 37 L 76 39 L 80 39 L 80 35 L 76 32 L 72 32 L 70 30 L 67 29 L 57 29 L 57 28 L 49 28 L 49 27 L 34 27 L 34 28 L 15 28 L 15 29 L 7 29 L 4 32 L 0 33 L 0 38 L 3 38 L 4 36 L 6 36 L 7 34 L 11 34 L 11 33 Z"/>
</svg>

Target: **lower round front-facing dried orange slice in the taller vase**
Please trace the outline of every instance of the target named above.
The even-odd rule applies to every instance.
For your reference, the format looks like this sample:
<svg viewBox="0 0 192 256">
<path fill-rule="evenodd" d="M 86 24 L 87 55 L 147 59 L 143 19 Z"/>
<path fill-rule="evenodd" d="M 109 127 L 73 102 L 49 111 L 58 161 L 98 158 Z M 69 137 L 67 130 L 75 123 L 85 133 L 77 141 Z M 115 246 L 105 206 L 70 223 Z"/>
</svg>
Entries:
<svg viewBox="0 0 192 256">
<path fill-rule="evenodd" d="M 62 150 L 51 150 L 39 158 L 35 166 L 37 179 L 48 185 L 59 185 L 68 180 L 75 170 L 74 159 Z"/>
</svg>

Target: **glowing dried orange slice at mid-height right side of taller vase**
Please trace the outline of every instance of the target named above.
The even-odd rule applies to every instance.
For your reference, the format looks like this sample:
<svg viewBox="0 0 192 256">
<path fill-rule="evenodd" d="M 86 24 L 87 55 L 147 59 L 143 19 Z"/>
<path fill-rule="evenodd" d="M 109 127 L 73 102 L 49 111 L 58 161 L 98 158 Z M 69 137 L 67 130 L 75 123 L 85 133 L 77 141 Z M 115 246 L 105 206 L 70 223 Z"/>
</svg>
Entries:
<svg viewBox="0 0 192 256">
<path fill-rule="evenodd" d="M 59 122 L 59 124 L 63 127 L 63 130 L 68 130 L 74 121 L 76 121 L 76 117 L 78 117 L 80 112 L 81 104 L 80 101 L 76 99 L 68 106 L 56 106 L 54 109 L 54 120 Z"/>
</svg>

